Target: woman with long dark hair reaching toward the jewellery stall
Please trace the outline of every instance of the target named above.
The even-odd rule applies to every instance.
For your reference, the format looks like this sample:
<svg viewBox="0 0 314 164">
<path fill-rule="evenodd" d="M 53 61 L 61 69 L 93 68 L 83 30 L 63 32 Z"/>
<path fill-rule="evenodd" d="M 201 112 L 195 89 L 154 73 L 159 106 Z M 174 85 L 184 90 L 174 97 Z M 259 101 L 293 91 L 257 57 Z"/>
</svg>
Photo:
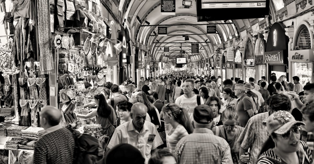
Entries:
<svg viewBox="0 0 314 164">
<path fill-rule="evenodd" d="M 76 114 L 78 118 L 93 118 L 96 116 L 96 121 L 102 127 L 101 134 L 106 134 L 110 136 L 114 131 L 114 121 L 116 121 L 116 113 L 105 100 L 105 96 L 101 93 L 94 96 L 96 105 L 98 106 L 97 110 L 94 110 L 87 115 Z"/>
</svg>

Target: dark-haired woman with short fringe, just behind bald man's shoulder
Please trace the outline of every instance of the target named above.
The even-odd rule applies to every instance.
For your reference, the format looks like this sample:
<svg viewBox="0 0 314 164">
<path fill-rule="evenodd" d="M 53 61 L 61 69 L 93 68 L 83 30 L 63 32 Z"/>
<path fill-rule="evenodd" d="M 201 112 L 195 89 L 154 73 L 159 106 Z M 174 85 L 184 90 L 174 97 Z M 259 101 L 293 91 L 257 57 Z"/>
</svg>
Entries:
<svg viewBox="0 0 314 164">
<path fill-rule="evenodd" d="M 117 104 L 119 117 L 116 119 L 116 127 L 128 121 L 132 121 L 132 118 L 131 118 L 132 106 L 133 104 L 127 101 L 122 101 Z"/>
</svg>

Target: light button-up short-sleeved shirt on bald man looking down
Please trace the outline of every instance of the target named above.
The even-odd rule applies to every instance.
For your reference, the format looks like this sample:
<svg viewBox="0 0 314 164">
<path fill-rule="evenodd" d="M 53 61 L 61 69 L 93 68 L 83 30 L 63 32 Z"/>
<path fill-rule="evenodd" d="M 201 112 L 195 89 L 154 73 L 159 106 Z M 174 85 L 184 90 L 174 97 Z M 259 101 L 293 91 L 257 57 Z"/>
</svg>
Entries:
<svg viewBox="0 0 314 164">
<path fill-rule="evenodd" d="M 132 121 L 118 126 L 111 137 L 108 148 L 112 149 L 114 146 L 122 143 L 130 144 L 138 148 L 145 158 L 145 163 L 147 163 L 150 158 L 151 150 L 164 144 L 156 126 L 147 121 L 145 121 L 140 132 L 135 129 Z"/>
</svg>

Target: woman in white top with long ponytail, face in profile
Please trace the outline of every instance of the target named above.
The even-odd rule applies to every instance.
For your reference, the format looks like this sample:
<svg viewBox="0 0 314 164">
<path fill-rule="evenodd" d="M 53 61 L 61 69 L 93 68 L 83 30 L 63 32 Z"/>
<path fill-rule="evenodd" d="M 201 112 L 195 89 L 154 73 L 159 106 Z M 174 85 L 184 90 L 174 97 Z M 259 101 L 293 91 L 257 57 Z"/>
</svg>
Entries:
<svg viewBox="0 0 314 164">
<path fill-rule="evenodd" d="M 171 124 L 172 126 L 166 140 L 169 150 L 174 153 L 179 140 L 193 132 L 191 120 L 187 114 L 187 110 L 180 108 L 175 103 L 170 103 L 163 107 L 161 116 L 166 124 Z"/>
</svg>

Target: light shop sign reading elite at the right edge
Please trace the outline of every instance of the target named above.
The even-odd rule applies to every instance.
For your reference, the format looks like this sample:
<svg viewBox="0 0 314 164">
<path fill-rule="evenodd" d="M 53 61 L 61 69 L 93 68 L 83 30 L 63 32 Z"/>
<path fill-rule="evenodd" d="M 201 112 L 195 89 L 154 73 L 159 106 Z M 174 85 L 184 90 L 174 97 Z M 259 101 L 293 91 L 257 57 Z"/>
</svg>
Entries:
<svg viewBox="0 0 314 164">
<path fill-rule="evenodd" d="M 313 50 L 289 51 L 290 62 L 312 62 L 314 60 Z"/>
</svg>

